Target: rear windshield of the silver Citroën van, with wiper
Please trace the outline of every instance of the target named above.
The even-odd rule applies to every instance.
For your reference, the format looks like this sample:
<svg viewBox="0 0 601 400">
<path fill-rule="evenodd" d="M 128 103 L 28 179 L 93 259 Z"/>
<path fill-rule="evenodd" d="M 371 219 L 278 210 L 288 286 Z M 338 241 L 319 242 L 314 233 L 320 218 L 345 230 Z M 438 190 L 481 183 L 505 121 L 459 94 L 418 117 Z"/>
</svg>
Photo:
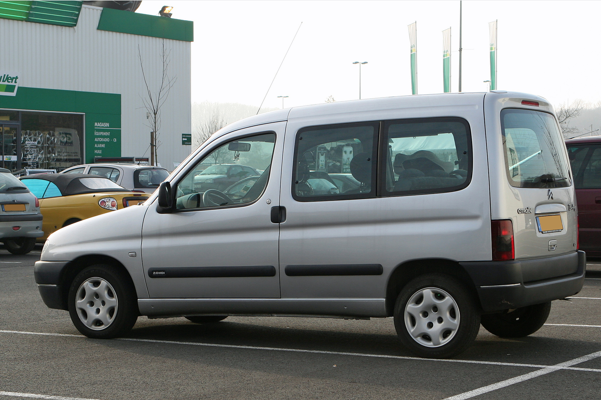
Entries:
<svg viewBox="0 0 601 400">
<path fill-rule="evenodd" d="M 511 186 L 570 186 L 564 142 L 551 114 L 504 109 L 501 111 L 501 129 Z"/>
</svg>

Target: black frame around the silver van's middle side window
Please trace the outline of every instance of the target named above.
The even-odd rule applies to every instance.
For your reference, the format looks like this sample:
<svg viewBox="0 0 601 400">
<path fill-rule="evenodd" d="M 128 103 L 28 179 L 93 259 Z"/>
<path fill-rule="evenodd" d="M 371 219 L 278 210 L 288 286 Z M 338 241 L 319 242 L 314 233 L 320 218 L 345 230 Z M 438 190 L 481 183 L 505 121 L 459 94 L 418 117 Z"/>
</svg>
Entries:
<svg viewBox="0 0 601 400">
<path fill-rule="evenodd" d="M 323 195 L 323 196 L 298 196 L 296 194 L 296 167 L 298 161 L 298 150 L 299 150 L 299 139 L 301 138 L 302 133 L 308 131 L 315 130 L 327 130 L 327 129 L 335 129 L 337 127 L 359 127 L 359 126 L 373 126 L 373 142 L 371 144 L 372 148 L 372 157 L 375 157 L 375 168 L 371 168 L 371 190 L 368 193 L 350 193 L 348 195 L 344 195 L 344 193 L 338 193 L 337 195 Z M 292 160 L 292 180 L 290 184 L 290 193 L 292 198 L 298 202 L 314 202 L 314 201 L 338 201 L 338 200 L 353 200 L 353 199 L 370 199 L 377 197 L 377 191 L 379 187 L 378 179 L 378 170 L 379 170 L 379 138 L 381 131 L 382 123 L 381 121 L 361 121 L 356 123 L 337 123 L 337 124 L 326 124 L 326 125 L 316 125 L 316 126 L 308 126 L 303 127 L 297 130 L 296 135 L 294 136 L 294 154 Z M 334 185 L 336 186 L 336 185 Z"/>
</svg>

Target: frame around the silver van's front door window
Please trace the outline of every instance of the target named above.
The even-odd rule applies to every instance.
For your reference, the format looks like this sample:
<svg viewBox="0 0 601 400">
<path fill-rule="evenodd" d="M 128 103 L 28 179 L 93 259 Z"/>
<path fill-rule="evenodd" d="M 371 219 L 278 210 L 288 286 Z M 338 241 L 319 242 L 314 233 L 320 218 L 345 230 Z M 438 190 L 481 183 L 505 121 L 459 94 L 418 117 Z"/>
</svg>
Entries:
<svg viewBox="0 0 601 400">
<path fill-rule="evenodd" d="M 275 147 L 278 144 L 278 134 L 275 133 L 275 131 L 273 131 L 273 130 L 267 130 L 267 131 L 256 132 L 256 133 L 247 133 L 243 136 L 237 136 L 236 138 L 225 139 L 224 141 L 215 141 L 213 144 L 210 145 L 210 147 L 208 147 L 209 150 L 203 151 L 203 153 L 199 154 L 198 157 L 194 161 L 188 163 L 186 168 L 183 169 L 182 172 L 180 172 L 180 177 L 178 177 L 177 181 L 171 182 L 171 187 L 174 189 L 174 196 L 175 196 L 175 194 L 177 194 L 177 187 L 186 177 L 188 177 L 188 174 L 190 174 L 192 172 L 192 169 L 194 169 L 195 166 L 197 166 L 201 162 L 203 162 L 203 160 L 206 159 L 209 156 L 209 154 L 213 153 L 213 151 L 217 150 L 219 147 L 221 147 L 225 144 L 228 144 L 230 142 L 244 140 L 245 138 L 252 138 L 254 136 L 269 135 L 269 134 L 272 134 L 274 136 L 273 151 L 271 153 L 271 161 L 269 163 L 269 175 L 267 175 L 267 183 L 265 184 L 265 187 L 263 188 L 263 192 L 261 192 L 261 194 L 258 195 L 256 199 L 254 199 L 253 201 L 246 202 L 246 203 L 222 205 L 220 207 L 197 207 L 197 208 L 177 209 L 177 208 L 175 208 L 175 202 L 176 202 L 177 198 L 174 197 L 173 208 L 171 209 L 171 213 L 188 213 L 189 211 L 208 211 L 208 210 L 221 210 L 223 208 L 246 207 L 247 205 L 255 204 L 257 201 L 259 201 L 261 199 L 261 197 L 263 197 L 265 190 L 267 190 L 267 185 L 269 185 L 269 182 L 272 178 L 271 177 L 271 171 L 272 171 L 271 166 L 273 165 L 273 154 L 275 154 Z"/>
</svg>

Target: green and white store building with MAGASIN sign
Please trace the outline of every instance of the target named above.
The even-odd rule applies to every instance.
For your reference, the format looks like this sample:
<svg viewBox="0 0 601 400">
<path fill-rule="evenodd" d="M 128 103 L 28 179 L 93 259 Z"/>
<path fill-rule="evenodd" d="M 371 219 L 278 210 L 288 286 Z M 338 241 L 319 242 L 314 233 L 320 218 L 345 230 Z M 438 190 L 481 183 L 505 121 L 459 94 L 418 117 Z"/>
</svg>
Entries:
<svg viewBox="0 0 601 400">
<path fill-rule="evenodd" d="M 150 157 L 145 82 L 156 95 L 164 45 L 175 83 L 160 108 L 157 162 L 172 170 L 191 151 L 192 40 L 191 21 L 81 1 L 0 1 L 0 167 Z"/>
</svg>

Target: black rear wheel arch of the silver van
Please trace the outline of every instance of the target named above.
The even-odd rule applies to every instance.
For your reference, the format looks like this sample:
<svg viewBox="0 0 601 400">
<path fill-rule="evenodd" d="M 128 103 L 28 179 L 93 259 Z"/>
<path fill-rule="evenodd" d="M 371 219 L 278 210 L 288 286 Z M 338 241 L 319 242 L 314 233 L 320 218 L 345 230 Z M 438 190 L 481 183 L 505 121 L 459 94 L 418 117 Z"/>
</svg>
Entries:
<svg viewBox="0 0 601 400">
<path fill-rule="evenodd" d="M 457 261 L 445 258 L 423 258 L 405 261 L 394 268 L 386 284 L 386 314 L 391 317 L 398 294 L 410 280 L 427 273 L 443 273 L 451 275 L 464 283 L 481 309 L 480 298 L 474 281 L 468 272 Z"/>
</svg>

